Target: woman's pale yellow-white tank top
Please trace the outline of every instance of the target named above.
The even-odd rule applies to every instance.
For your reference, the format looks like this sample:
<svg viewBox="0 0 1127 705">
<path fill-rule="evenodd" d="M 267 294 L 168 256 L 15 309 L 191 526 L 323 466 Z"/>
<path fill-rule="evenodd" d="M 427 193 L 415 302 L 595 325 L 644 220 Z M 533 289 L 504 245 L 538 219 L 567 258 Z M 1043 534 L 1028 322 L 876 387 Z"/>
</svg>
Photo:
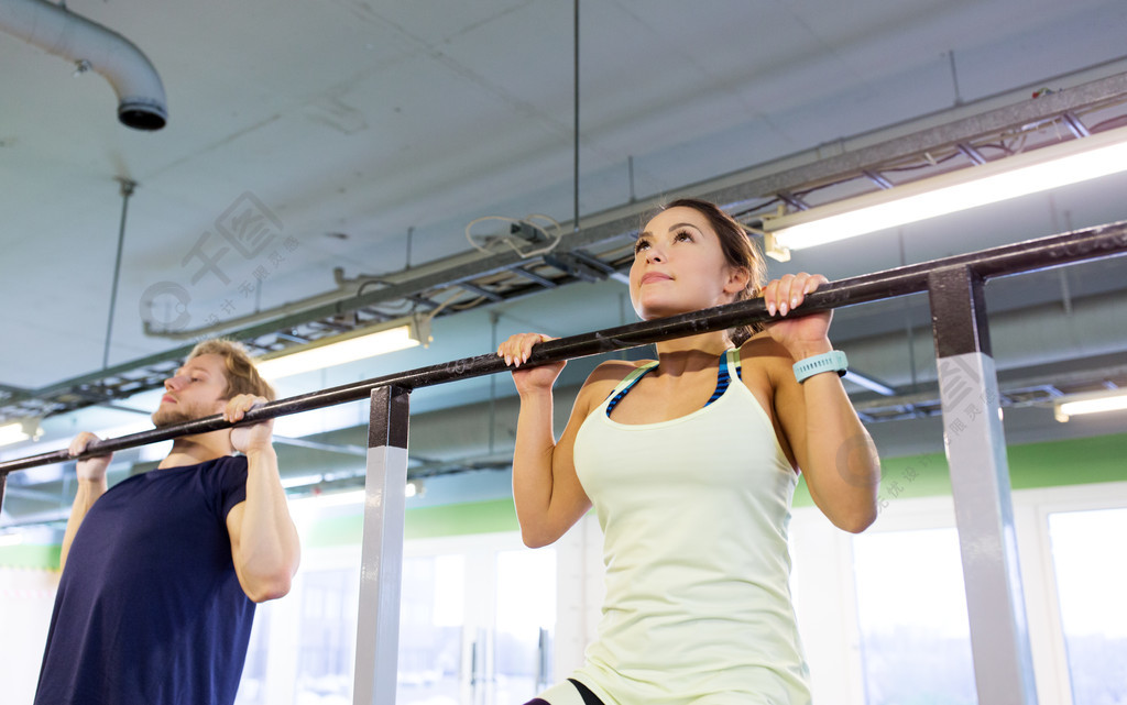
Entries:
<svg viewBox="0 0 1127 705">
<path fill-rule="evenodd" d="M 624 425 L 606 404 L 579 428 L 575 465 L 604 535 L 606 599 L 575 678 L 607 705 L 805 705 L 787 527 L 797 475 L 739 351 L 731 384 L 669 421 Z M 721 375 L 722 376 L 722 375 Z"/>
</svg>

